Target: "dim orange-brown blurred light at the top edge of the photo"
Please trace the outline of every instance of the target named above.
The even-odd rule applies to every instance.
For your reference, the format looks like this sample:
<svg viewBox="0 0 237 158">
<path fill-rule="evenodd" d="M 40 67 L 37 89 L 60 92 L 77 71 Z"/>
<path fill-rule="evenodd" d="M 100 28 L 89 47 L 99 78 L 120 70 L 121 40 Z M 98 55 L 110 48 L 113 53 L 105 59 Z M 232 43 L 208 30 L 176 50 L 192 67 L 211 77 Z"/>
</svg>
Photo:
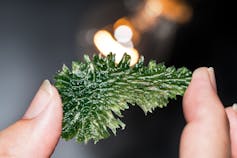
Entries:
<svg viewBox="0 0 237 158">
<path fill-rule="evenodd" d="M 185 23 L 192 16 L 192 9 L 185 0 L 144 0 L 142 7 L 130 18 L 139 32 L 150 30 L 160 17 L 176 23 Z"/>
</svg>

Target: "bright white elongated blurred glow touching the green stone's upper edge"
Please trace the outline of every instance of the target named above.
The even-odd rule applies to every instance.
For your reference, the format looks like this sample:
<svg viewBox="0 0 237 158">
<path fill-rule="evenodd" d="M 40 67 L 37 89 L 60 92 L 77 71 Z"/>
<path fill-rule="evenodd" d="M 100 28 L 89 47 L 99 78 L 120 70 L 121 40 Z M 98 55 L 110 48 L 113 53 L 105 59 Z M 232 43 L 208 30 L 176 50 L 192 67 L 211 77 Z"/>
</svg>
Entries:
<svg viewBox="0 0 237 158">
<path fill-rule="evenodd" d="M 119 63 L 122 59 L 124 53 L 127 53 L 131 56 L 131 63 L 130 65 L 134 65 L 137 63 L 139 59 L 139 54 L 136 49 L 134 48 L 127 48 L 117 42 L 111 34 L 106 30 L 100 30 L 96 32 L 94 36 L 94 43 L 98 50 L 103 55 L 108 55 L 109 53 L 115 54 L 115 62 Z"/>
</svg>

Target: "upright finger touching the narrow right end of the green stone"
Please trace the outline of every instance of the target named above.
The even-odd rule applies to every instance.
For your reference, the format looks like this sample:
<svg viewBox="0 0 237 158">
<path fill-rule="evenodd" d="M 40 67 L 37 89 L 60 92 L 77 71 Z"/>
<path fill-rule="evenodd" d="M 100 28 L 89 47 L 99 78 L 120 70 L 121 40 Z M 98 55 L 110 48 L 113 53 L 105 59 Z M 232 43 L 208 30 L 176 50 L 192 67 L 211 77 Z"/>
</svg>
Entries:
<svg viewBox="0 0 237 158">
<path fill-rule="evenodd" d="M 228 120 L 216 93 L 213 69 L 199 68 L 193 73 L 183 111 L 187 125 L 181 136 L 181 158 L 230 157 Z"/>
</svg>

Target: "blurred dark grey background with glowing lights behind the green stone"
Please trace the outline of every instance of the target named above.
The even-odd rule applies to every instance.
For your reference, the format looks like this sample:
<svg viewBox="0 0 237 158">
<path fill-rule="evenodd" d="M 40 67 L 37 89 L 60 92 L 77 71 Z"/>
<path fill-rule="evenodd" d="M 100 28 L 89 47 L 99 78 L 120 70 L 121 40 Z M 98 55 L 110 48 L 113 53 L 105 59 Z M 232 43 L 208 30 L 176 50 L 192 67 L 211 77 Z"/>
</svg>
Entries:
<svg viewBox="0 0 237 158">
<path fill-rule="evenodd" d="M 0 0 L 0 130 L 19 119 L 44 79 L 83 54 L 124 50 L 194 70 L 212 66 L 226 106 L 237 101 L 233 1 Z M 111 49 L 111 50 L 110 50 Z M 173 158 L 185 121 L 182 98 L 144 116 L 125 111 L 125 130 L 93 143 L 60 140 L 55 158 Z"/>
</svg>

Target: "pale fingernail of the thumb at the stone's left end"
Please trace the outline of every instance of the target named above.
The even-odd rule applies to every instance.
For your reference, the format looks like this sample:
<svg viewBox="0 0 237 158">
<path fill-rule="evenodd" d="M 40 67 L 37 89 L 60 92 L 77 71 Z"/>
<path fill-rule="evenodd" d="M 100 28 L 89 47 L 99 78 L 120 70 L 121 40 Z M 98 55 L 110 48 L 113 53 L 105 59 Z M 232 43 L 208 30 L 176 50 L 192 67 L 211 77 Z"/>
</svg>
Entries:
<svg viewBox="0 0 237 158">
<path fill-rule="evenodd" d="M 49 80 L 44 80 L 23 118 L 32 119 L 37 117 L 49 103 L 52 94 L 52 86 Z"/>
</svg>

